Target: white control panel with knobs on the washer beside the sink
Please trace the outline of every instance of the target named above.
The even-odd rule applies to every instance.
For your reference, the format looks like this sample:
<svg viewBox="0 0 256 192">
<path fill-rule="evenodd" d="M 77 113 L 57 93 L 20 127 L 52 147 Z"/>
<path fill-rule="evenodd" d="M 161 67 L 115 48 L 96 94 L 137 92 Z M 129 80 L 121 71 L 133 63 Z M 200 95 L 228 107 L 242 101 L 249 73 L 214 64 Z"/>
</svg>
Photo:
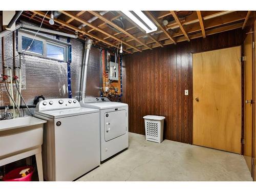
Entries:
<svg viewBox="0 0 256 192">
<path fill-rule="evenodd" d="M 46 99 L 36 104 L 35 111 L 47 111 L 69 108 L 80 108 L 81 105 L 76 99 L 60 98 L 60 99 Z"/>
</svg>

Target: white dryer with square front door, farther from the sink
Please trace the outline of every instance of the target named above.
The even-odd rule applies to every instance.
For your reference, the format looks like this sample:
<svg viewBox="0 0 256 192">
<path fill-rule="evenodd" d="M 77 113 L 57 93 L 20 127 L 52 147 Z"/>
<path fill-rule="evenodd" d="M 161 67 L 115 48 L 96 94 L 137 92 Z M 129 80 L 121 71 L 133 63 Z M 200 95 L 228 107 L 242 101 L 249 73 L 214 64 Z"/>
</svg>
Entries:
<svg viewBox="0 0 256 192">
<path fill-rule="evenodd" d="M 87 97 L 81 106 L 100 110 L 100 160 L 124 150 L 128 144 L 128 105 L 105 97 Z"/>
</svg>

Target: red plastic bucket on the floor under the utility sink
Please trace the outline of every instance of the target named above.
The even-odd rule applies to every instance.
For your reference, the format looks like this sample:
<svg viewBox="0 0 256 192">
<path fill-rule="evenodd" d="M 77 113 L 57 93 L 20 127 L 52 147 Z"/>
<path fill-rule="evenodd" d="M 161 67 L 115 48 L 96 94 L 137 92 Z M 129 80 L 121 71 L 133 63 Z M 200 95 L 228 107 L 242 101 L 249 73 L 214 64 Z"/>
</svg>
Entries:
<svg viewBox="0 0 256 192">
<path fill-rule="evenodd" d="M 30 168 L 30 169 L 26 173 L 27 175 L 25 177 L 22 177 L 22 175 L 20 175 L 19 172 L 25 168 Z M 3 180 L 4 181 L 31 181 L 33 172 L 34 172 L 34 167 L 32 166 L 15 168 L 14 170 L 11 170 L 8 174 L 6 174 Z"/>
</svg>

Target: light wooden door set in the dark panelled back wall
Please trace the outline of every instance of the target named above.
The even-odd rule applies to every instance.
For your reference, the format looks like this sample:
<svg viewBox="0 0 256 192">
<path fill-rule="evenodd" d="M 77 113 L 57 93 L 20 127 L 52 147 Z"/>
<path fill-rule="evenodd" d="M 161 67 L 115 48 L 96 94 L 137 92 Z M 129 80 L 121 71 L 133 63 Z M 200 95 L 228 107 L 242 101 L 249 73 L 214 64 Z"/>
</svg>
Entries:
<svg viewBox="0 0 256 192">
<path fill-rule="evenodd" d="M 193 144 L 241 154 L 241 46 L 193 54 Z"/>
</svg>

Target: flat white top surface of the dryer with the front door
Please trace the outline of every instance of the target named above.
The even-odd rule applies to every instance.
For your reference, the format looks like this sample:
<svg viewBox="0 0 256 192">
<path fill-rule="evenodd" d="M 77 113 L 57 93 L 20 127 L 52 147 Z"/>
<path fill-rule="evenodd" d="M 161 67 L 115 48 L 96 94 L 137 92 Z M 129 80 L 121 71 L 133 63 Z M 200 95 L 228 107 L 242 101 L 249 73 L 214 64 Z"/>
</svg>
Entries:
<svg viewBox="0 0 256 192">
<path fill-rule="evenodd" d="M 93 108 L 93 109 L 112 109 L 112 108 L 121 108 L 122 106 L 128 106 L 126 103 L 120 102 L 93 102 L 93 103 L 83 103 L 80 101 L 81 106 L 85 108 Z"/>
</svg>

